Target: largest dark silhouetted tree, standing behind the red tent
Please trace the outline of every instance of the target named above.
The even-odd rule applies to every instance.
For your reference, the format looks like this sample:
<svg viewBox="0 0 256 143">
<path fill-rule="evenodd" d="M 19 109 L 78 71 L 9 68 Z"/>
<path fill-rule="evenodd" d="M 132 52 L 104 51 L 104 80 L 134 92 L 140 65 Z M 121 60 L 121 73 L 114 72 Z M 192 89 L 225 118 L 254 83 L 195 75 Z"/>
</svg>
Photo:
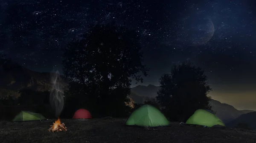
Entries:
<svg viewBox="0 0 256 143">
<path fill-rule="evenodd" d="M 67 95 L 79 97 L 77 107 L 100 116 L 123 116 L 131 79 L 147 76 L 138 34 L 122 26 L 94 25 L 82 39 L 64 49 Z M 80 103 L 79 103 L 80 102 Z"/>
</svg>

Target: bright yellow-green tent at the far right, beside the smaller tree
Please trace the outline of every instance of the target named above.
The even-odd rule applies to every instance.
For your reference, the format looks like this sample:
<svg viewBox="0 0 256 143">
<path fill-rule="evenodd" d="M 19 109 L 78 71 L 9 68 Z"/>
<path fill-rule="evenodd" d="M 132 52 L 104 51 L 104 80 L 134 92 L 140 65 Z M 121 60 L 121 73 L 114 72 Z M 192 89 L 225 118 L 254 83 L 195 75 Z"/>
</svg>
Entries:
<svg viewBox="0 0 256 143">
<path fill-rule="evenodd" d="M 195 113 L 186 121 L 186 124 L 202 125 L 202 126 L 225 126 L 224 123 L 212 112 L 204 109 L 198 109 Z"/>
</svg>

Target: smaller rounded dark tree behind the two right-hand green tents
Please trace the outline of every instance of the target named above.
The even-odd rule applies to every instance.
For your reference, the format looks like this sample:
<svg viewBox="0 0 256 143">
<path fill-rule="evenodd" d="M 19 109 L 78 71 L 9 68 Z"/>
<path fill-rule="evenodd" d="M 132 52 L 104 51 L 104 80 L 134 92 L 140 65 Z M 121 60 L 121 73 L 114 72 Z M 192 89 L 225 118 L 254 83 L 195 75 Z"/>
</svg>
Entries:
<svg viewBox="0 0 256 143">
<path fill-rule="evenodd" d="M 170 120 L 184 122 L 197 109 L 211 110 L 207 94 L 212 89 L 200 67 L 188 62 L 175 65 L 171 73 L 164 74 L 159 82 L 157 100 Z"/>
</svg>

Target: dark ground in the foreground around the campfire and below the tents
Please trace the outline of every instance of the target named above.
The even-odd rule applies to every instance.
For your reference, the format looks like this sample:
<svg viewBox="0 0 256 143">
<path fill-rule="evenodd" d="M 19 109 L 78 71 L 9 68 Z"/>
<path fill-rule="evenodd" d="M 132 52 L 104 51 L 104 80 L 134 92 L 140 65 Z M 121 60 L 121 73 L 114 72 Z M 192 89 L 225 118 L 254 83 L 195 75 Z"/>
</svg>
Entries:
<svg viewBox="0 0 256 143">
<path fill-rule="evenodd" d="M 252 131 L 180 126 L 146 129 L 125 119 L 63 119 L 67 132 L 49 132 L 53 121 L 0 122 L 1 143 L 256 143 Z"/>
</svg>

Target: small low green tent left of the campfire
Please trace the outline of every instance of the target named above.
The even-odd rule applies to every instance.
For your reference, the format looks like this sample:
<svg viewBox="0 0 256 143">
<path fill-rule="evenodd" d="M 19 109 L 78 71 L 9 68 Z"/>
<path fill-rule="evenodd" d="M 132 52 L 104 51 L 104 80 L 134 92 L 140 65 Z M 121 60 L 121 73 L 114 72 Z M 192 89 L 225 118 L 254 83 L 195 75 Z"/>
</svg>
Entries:
<svg viewBox="0 0 256 143">
<path fill-rule="evenodd" d="M 33 121 L 33 120 L 44 120 L 45 117 L 38 113 L 28 112 L 28 111 L 21 111 L 15 118 L 12 120 L 14 122 L 18 121 Z"/>
</svg>

